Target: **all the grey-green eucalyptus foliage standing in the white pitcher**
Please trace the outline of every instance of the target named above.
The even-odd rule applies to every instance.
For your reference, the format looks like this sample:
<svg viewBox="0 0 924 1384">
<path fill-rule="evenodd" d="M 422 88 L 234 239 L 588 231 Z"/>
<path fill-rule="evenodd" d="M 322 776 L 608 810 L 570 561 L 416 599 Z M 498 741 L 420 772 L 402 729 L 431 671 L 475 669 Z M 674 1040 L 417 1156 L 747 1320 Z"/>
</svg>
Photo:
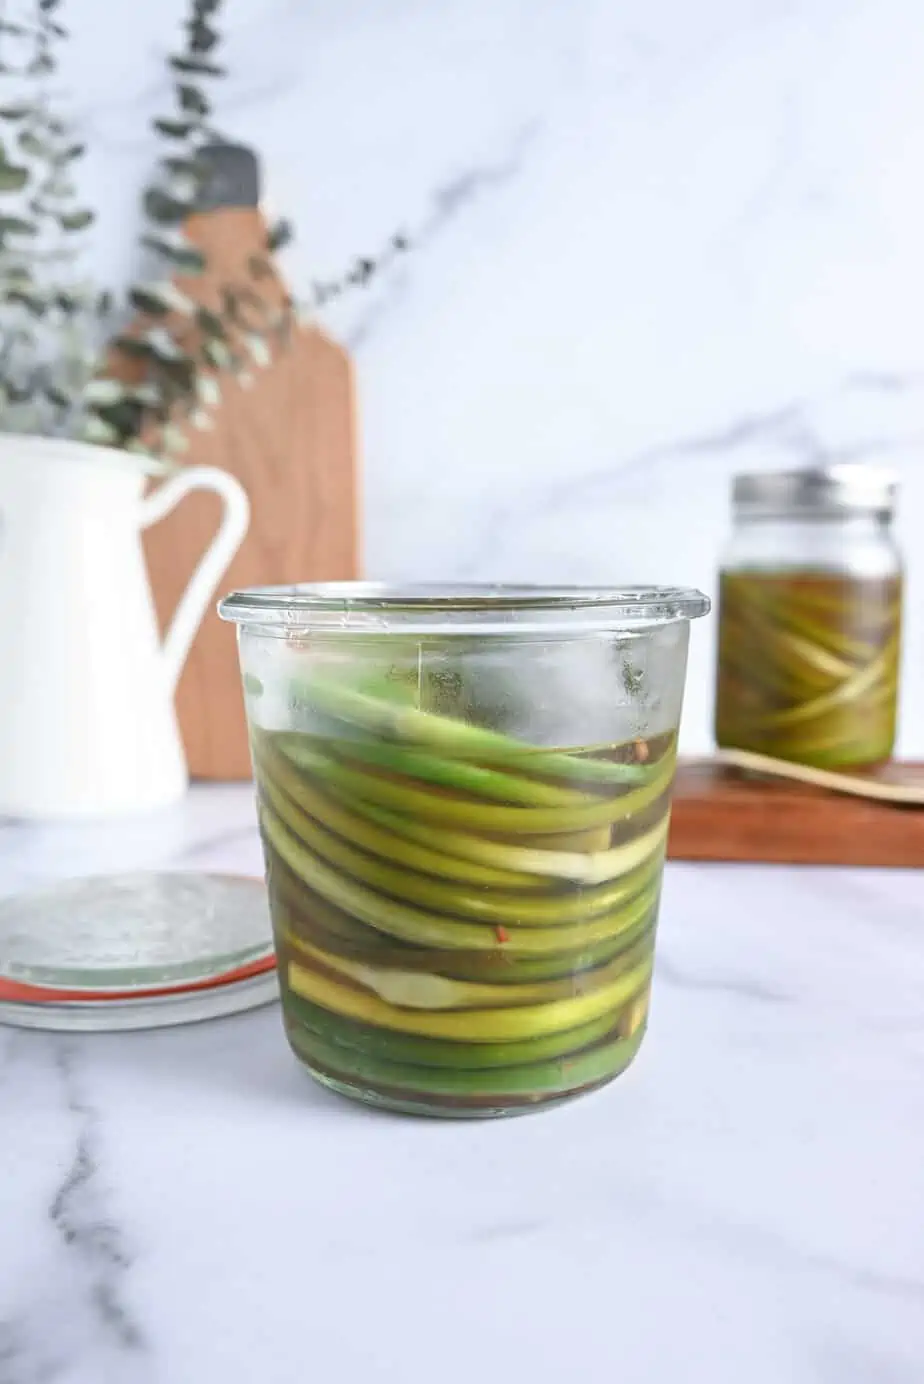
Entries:
<svg viewBox="0 0 924 1384">
<path fill-rule="evenodd" d="M 187 424 L 210 425 L 225 372 L 246 383 L 300 322 L 365 285 L 407 238 L 394 235 L 382 253 L 355 259 L 297 302 L 272 263 L 293 237 L 281 220 L 241 281 L 220 282 L 209 306 L 184 292 L 185 280 L 209 268 L 184 227 L 217 205 L 216 151 L 227 149 L 213 123 L 225 75 L 223 0 L 190 0 L 184 42 L 167 58 L 173 108 L 154 122 L 166 152 L 144 194 L 141 244 L 152 275 L 129 289 L 116 314 L 111 295 L 79 274 L 82 237 L 95 217 L 79 198 L 84 147 L 57 82 L 68 37 L 62 0 L 21 3 L 28 15 L 14 19 L 0 0 L 0 75 L 15 93 L 0 107 L 0 428 L 172 455 L 185 446 Z M 104 352 L 116 316 L 131 325 Z"/>
</svg>

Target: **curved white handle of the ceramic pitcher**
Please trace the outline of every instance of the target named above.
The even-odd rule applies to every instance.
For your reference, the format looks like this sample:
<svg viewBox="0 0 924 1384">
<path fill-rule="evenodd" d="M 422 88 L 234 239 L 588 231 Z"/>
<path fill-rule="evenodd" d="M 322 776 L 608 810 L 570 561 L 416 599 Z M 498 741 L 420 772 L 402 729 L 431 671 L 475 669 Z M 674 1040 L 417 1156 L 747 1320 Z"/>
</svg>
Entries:
<svg viewBox="0 0 924 1384">
<path fill-rule="evenodd" d="M 219 531 L 199 558 L 163 638 L 163 668 L 170 693 L 180 681 L 209 601 L 243 543 L 250 522 L 250 501 L 239 480 L 219 466 L 184 466 L 141 501 L 141 527 L 149 529 L 163 519 L 191 490 L 213 490 L 221 498 L 223 513 Z"/>
</svg>

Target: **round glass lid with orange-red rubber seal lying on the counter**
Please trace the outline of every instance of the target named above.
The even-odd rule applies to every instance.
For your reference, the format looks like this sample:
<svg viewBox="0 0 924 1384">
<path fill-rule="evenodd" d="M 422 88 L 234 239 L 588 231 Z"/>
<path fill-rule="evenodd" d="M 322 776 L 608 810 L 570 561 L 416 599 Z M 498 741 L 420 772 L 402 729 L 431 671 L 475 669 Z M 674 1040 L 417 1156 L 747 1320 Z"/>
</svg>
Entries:
<svg viewBox="0 0 924 1384">
<path fill-rule="evenodd" d="M 142 871 L 0 900 L 0 1023 L 144 1028 L 275 996 L 267 894 L 249 876 Z"/>
</svg>

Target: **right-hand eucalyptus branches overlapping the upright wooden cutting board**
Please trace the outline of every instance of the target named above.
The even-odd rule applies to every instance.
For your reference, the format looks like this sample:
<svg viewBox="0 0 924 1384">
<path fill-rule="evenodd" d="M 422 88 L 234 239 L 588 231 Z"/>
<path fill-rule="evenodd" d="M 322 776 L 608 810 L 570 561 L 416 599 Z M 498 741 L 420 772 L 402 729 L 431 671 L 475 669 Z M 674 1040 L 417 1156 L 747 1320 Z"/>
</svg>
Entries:
<svg viewBox="0 0 924 1384">
<path fill-rule="evenodd" d="M 95 441 L 156 453 L 181 450 L 187 424 L 210 426 L 224 375 L 246 385 L 252 371 L 288 349 L 296 328 L 318 309 L 365 285 L 407 248 L 407 239 L 396 235 L 382 253 L 355 259 L 340 278 L 314 284 L 307 302 L 297 302 L 282 288 L 272 263 L 295 234 L 288 220 L 279 220 L 245 273 L 219 285 L 213 307 L 184 293 L 183 281 L 207 268 L 184 226 L 194 212 L 212 205 L 212 155 L 224 145 L 213 120 L 214 91 L 225 75 L 217 28 L 221 4 L 190 0 L 184 43 L 167 57 L 173 104 L 154 120 L 166 152 L 142 199 L 148 226 L 141 244 L 152 259 L 152 278 L 129 291 L 136 321 L 113 343 L 118 374 L 131 378 L 101 378 L 87 390 L 87 436 Z"/>
</svg>

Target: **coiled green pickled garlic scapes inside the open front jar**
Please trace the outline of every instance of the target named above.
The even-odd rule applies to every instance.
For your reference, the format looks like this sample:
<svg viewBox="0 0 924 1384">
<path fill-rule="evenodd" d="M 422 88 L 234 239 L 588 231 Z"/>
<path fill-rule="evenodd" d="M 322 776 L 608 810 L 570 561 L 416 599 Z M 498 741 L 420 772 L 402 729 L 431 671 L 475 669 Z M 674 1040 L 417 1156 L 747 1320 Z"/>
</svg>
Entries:
<svg viewBox="0 0 924 1384">
<path fill-rule="evenodd" d="M 317 693 L 317 695 L 313 695 Z M 642 1037 L 675 738 L 538 750 L 318 680 L 253 731 L 289 1039 L 387 1103 L 609 1080 Z"/>
</svg>

